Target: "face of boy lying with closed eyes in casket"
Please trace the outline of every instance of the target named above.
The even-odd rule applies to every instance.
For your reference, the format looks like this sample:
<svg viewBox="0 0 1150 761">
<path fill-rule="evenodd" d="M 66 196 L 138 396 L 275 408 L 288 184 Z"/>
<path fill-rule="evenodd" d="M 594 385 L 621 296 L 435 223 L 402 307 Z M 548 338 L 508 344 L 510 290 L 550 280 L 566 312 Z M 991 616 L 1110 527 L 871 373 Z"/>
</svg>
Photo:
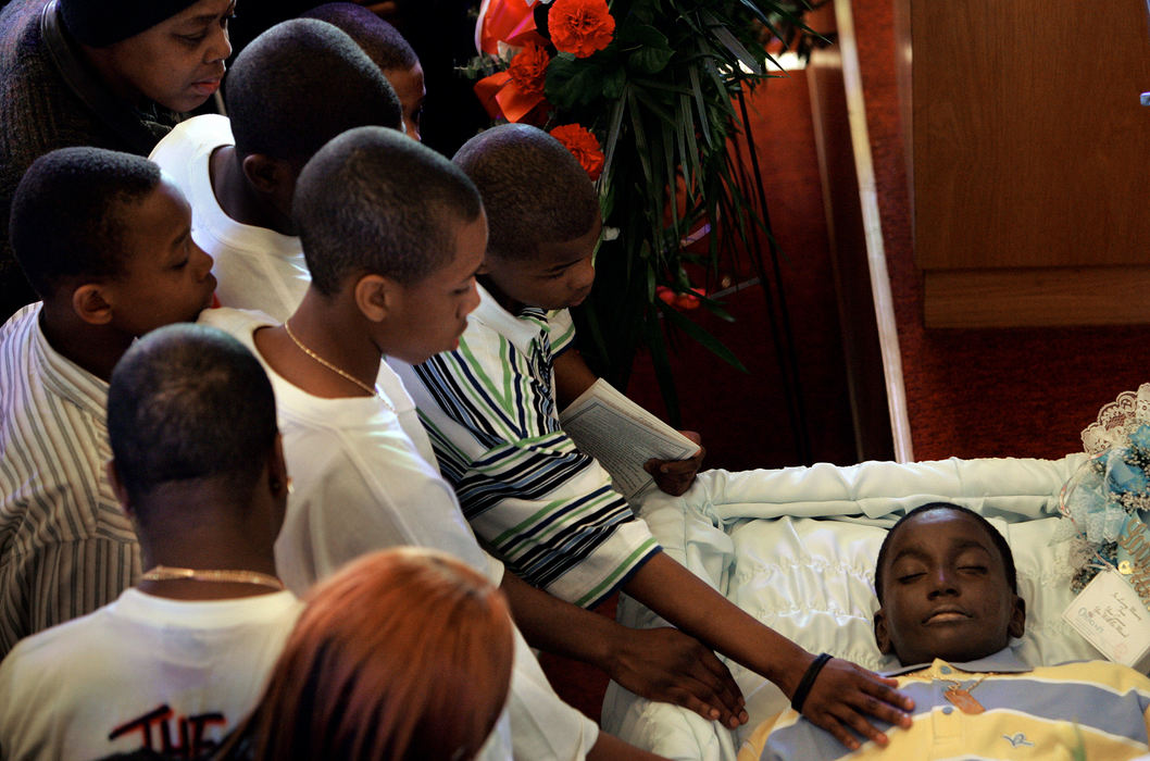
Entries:
<svg viewBox="0 0 1150 761">
<path fill-rule="evenodd" d="M 914 516 L 890 540 L 884 563 L 875 639 L 904 664 L 973 661 L 1022 636 L 1022 599 L 974 517 L 948 509 Z"/>
</svg>

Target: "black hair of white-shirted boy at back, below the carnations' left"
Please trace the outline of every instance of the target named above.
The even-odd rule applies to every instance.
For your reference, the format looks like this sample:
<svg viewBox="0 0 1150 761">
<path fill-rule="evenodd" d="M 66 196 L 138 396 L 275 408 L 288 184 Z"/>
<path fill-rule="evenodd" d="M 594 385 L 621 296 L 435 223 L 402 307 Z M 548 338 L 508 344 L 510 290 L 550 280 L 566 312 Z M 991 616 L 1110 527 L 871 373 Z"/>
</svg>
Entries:
<svg viewBox="0 0 1150 761">
<path fill-rule="evenodd" d="M 225 103 L 240 159 L 264 154 L 302 163 L 353 126 L 404 123 L 379 67 L 352 38 L 315 18 L 285 21 L 252 40 L 228 72 Z"/>
</svg>

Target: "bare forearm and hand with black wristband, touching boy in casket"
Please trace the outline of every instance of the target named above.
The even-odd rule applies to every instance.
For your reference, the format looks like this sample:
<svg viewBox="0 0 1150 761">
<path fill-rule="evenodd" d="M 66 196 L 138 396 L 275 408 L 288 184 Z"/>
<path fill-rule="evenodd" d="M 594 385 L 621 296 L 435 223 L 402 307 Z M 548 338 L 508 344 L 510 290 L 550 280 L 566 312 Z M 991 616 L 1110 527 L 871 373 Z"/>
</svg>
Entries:
<svg viewBox="0 0 1150 761">
<path fill-rule="evenodd" d="M 653 556 L 623 585 L 628 594 L 714 649 L 774 682 L 793 697 L 814 656 L 765 627 L 715 592 L 666 553 Z M 859 736 L 887 744 L 871 717 L 907 728 L 904 713 L 914 702 L 897 692 L 895 679 L 880 677 L 839 659 L 819 672 L 802 706 L 812 722 L 846 747 L 859 747 Z"/>
</svg>

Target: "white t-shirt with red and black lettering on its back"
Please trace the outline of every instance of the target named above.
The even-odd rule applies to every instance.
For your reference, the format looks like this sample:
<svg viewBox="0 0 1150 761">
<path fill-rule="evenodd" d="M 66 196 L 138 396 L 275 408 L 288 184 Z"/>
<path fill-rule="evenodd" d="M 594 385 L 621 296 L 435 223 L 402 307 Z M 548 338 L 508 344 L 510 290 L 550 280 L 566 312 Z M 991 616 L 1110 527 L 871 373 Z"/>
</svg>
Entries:
<svg viewBox="0 0 1150 761">
<path fill-rule="evenodd" d="M 255 707 L 301 609 L 291 592 L 184 601 L 133 587 L 23 639 L 0 663 L 2 756 L 209 751 Z"/>
</svg>

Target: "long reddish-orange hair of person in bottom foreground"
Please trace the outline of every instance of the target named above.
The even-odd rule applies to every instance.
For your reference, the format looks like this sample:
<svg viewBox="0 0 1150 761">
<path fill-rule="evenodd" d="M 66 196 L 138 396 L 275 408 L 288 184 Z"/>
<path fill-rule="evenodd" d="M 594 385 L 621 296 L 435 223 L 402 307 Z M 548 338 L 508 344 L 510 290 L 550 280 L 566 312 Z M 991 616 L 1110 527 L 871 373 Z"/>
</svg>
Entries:
<svg viewBox="0 0 1150 761">
<path fill-rule="evenodd" d="M 446 554 L 367 555 L 308 594 L 255 713 L 255 760 L 471 759 L 506 702 L 503 593 Z"/>
</svg>

